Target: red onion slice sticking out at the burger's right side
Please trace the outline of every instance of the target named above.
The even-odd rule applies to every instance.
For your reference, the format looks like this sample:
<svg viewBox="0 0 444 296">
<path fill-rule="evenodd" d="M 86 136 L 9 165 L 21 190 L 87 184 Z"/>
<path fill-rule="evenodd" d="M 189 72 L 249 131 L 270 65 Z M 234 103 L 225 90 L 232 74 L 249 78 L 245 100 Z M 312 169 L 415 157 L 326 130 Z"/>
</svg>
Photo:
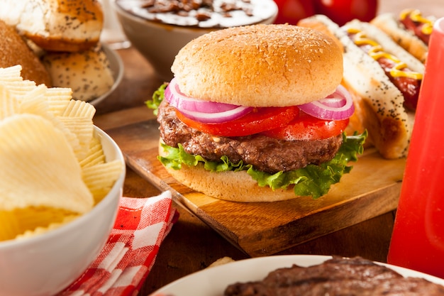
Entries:
<svg viewBox="0 0 444 296">
<path fill-rule="evenodd" d="M 343 120 L 352 116 L 355 105 L 351 94 L 339 85 L 333 94 L 315 102 L 299 105 L 299 109 L 318 119 Z"/>
</svg>

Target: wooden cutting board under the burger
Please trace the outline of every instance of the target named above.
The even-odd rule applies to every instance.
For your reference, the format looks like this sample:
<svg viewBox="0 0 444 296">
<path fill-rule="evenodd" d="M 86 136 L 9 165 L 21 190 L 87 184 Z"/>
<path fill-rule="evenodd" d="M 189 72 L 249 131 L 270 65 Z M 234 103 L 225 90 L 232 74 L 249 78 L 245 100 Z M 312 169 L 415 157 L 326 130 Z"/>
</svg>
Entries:
<svg viewBox="0 0 444 296">
<path fill-rule="evenodd" d="M 248 255 L 267 256 L 396 209 L 405 159 L 384 160 L 366 150 L 353 170 L 319 199 L 238 203 L 214 199 L 175 181 L 157 160 L 152 119 L 107 130 L 129 167 Z M 246 192 L 248 194 L 248 192 Z"/>
</svg>

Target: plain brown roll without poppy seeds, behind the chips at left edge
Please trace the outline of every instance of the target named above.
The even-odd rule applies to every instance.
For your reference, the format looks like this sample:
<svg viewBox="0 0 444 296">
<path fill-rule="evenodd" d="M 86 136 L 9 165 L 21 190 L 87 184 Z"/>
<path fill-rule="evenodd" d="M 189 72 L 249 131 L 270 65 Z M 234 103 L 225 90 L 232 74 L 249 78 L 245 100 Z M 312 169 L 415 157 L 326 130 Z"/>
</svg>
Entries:
<svg viewBox="0 0 444 296">
<path fill-rule="evenodd" d="M 30 50 L 26 42 L 14 28 L 0 21 L 0 67 L 6 68 L 21 65 L 21 75 L 25 80 L 36 84 L 52 86 L 51 78 L 45 66 Z"/>
</svg>

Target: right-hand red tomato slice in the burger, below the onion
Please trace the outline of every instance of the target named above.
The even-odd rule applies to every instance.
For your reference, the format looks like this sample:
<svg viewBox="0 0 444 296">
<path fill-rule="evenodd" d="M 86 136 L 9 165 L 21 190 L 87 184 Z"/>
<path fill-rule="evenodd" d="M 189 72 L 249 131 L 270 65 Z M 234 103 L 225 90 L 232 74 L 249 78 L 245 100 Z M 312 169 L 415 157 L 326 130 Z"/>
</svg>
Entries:
<svg viewBox="0 0 444 296">
<path fill-rule="evenodd" d="M 323 140 L 332 136 L 338 136 L 348 126 L 349 119 L 323 120 L 317 119 L 304 111 L 299 111 L 299 116 L 287 126 L 263 131 L 262 134 L 270 138 L 278 138 L 286 141 L 311 141 Z"/>
</svg>

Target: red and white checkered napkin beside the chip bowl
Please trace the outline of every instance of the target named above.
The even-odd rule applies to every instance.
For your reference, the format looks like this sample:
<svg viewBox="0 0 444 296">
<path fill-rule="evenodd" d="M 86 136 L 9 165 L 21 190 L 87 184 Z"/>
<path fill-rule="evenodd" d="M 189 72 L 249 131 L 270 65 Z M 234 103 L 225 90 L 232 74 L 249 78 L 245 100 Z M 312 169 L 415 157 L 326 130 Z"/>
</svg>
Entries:
<svg viewBox="0 0 444 296">
<path fill-rule="evenodd" d="M 171 192 L 148 198 L 122 197 L 104 249 L 59 296 L 135 295 L 178 216 Z"/>
</svg>

